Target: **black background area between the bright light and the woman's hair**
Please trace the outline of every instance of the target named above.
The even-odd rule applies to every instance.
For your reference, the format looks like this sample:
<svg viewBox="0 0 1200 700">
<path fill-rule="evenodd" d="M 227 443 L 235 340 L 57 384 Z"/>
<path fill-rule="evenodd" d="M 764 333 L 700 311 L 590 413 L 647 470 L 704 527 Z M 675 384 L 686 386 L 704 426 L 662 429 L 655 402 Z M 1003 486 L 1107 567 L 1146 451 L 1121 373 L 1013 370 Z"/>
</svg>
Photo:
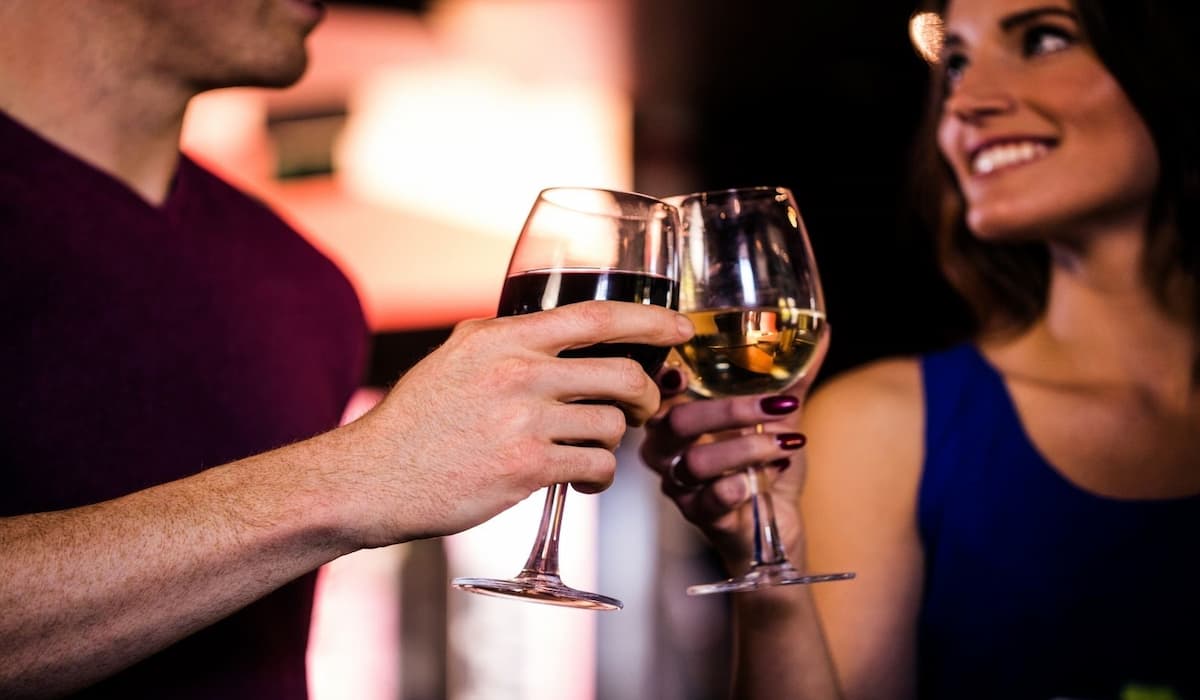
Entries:
<svg viewBox="0 0 1200 700">
<path fill-rule="evenodd" d="M 821 265 L 822 378 L 965 328 L 910 196 L 928 68 L 912 1 L 637 2 L 638 187 L 792 189 Z M 654 192 L 667 195 L 672 192 Z"/>
</svg>

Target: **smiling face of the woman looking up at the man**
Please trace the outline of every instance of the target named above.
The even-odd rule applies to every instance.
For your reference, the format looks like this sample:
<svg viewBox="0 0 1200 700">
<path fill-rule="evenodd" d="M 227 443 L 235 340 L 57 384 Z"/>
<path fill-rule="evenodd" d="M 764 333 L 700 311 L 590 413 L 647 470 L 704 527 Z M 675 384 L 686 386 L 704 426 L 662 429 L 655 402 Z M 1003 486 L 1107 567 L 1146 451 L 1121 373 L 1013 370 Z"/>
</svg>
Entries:
<svg viewBox="0 0 1200 700">
<path fill-rule="evenodd" d="M 1141 225 L 1158 181 L 1150 131 L 1068 0 L 952 0 L 937 142 L 984 239 Z"/>
</svg>

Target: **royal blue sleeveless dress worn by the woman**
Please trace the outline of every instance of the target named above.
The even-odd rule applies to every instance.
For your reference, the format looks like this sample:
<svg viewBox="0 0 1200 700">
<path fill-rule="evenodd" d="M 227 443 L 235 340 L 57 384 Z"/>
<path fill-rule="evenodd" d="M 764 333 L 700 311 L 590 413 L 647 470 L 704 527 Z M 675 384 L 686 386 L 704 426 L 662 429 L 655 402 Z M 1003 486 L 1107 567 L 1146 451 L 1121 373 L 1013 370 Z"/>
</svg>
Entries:
<svg viewBox="0 0 1200 700">
<path fill-rule="evenodd" d="M 1200 698 L 1200 496 L 1069 483 L 973 346 L 922 372 L 918 696 Z"/>
</svg>

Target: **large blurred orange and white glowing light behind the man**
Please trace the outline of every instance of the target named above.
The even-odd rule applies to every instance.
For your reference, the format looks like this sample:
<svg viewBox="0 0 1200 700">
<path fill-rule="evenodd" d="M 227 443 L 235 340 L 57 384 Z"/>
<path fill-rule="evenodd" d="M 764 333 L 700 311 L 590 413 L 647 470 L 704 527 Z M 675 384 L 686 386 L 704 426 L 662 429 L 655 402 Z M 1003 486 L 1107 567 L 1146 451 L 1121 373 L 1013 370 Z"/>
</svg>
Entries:
<svg viewBox="0 0 1200 700">
<path fill-rule="evenodd" d="M 491 316 L 539 190 L 632 184 L 619 7 L 442 0 L 415 20 L 331 6 L 300 84 L 200 96 L 186 148 L 338 262 L 372 329 Z M 268 114 L 338 100 L 332 177 L 275 180 Z"/>
</svg>

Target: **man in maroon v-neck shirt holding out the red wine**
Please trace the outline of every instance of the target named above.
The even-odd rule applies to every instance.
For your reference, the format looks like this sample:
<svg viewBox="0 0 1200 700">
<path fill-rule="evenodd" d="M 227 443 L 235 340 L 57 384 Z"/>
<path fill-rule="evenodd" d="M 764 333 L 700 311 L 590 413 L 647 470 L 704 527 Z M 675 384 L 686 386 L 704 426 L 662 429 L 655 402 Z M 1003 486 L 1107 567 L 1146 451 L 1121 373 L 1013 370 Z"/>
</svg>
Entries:
<svg viewBox="0 0 1200 700">
<path fill-rule="evenodd" d="M 293 83 L 320 16 L 0 6 L 0 696 L 304 698 L 319 566 L 600 490 L 658 407 L 632 363 L 557 354 L 691 325 L 587 303 L 463 323 L 334 429 L 366 353 L 350 286 L 179 152 L 192 96 Z"/>
</svg>

